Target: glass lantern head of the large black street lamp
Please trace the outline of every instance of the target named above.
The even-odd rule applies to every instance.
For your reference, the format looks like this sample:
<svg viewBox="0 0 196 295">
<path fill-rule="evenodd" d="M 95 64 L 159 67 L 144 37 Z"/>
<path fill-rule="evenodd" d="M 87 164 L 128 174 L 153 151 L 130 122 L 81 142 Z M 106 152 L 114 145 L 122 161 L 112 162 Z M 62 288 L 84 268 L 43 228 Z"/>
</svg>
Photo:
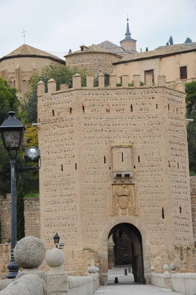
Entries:
<svg viewBox="0 0 196 295">
<path fill-rule="evenodd" d="M 5 119 L 0 126 L 0 135 L 3 146 L 9 150 L 19 150 L 22 147 L 25 135 L 25 126 L 14 116 L 16 113 L 8 113 L 9 118 Z"/>
</svg>

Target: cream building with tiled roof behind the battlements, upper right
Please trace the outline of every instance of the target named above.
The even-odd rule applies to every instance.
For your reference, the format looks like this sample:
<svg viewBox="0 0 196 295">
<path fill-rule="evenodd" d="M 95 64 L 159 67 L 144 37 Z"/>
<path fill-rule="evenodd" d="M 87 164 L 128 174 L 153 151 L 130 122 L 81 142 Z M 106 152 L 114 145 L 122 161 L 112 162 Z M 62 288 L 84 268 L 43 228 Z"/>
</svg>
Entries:
<svg viewBox="0 0 196 295">
<path fill-rule="evenodd" d="M 158 76 L 165 75 L 168 87 L 175 88 L 178 82 L 188 83 L 196 80 L 196 48 L 176 45 L 153 51 L 134 53 L 113 62 L 113 73 L 117 82 L 122 75 L 129 75 L 129 82 L 135 73 L 140 74 L 145 83 L 145 75 L 153 75 L 153 83 L 158 83 Z"/>
</svg>

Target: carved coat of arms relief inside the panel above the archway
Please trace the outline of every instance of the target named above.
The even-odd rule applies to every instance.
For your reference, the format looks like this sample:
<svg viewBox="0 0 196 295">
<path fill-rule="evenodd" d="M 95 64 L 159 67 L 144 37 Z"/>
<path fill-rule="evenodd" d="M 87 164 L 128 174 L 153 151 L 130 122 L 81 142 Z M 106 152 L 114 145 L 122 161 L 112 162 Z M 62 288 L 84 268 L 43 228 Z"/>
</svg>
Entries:
<svg viewBox="0 0 196 295">
<path fill-rule="evenodd" d="M 135 215 L 134 186 L 121 184 L 113 189 L 113 215 Z M 134 213 L 134 214 L 133 214 Z"/>
</svg>

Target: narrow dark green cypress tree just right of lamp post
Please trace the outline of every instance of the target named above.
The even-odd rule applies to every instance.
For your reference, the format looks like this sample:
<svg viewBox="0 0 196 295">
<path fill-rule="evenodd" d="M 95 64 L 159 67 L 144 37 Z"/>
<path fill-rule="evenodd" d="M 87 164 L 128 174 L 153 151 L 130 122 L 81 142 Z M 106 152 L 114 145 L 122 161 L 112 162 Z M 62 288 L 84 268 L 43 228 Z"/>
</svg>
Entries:
<svg viewBox="0 0 196 295">
<path fill-rule="evenodd" d="M 24 191 L 23 180 L 19 177 L 16 193 L 16 212 L 17 212 L 17 240 L 25 237 L 25 203 L 24 203 Z"/>
</svg>

